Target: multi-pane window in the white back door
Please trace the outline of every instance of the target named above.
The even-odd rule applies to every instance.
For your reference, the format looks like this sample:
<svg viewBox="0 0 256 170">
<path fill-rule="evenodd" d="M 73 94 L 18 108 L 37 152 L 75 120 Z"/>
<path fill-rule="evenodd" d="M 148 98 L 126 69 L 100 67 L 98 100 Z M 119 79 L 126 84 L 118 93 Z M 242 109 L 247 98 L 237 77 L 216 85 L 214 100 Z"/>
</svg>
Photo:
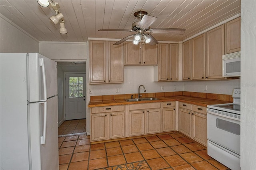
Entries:
<svg viewBox="0 0 256 170">
<path fill-rule="evenodd" d="M 69 98 L 83 97 L 83 77 L 69 77 Z"/>
</svg>

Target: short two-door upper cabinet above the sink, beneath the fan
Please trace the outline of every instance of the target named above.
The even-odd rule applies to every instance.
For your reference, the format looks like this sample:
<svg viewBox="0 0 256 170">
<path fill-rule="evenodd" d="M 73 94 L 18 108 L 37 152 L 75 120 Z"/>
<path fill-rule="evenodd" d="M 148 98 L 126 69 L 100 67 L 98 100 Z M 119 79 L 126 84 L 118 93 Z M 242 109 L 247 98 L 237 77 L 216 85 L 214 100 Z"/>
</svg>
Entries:
<svg viewBox="0 0 256 170">
<path fill-rule="evenodd" d="M 125 65 L 157 65 L 158 45 L 125 42 Z"/>
</svg>

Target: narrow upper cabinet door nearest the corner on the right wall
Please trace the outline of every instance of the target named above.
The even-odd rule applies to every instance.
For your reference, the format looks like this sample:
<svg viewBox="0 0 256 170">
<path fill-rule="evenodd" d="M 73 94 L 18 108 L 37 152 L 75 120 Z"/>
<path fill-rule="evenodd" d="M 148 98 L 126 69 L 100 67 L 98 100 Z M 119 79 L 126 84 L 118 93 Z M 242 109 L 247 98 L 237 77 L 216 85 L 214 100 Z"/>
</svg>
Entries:
<svg viewBox="0 0 256 170">
<path fill-rule="evenodd" d="M 191 40 L 188 40 L 182 44 L 183 53 L 183 80 L 191 80 Z"/>
</svg>

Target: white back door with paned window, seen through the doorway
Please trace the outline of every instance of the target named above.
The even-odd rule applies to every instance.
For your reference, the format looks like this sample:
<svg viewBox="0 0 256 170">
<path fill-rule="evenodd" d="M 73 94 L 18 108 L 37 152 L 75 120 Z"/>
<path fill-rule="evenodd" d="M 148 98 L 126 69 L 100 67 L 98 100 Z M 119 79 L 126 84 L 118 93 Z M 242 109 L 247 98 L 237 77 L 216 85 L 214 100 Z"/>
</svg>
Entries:
<svg viewBox="0 0 256 170">
<path fill-rule="evenodd" d="M 66 120 L 86 118 L 86 74 L 66 74 Z"/>
</svg>

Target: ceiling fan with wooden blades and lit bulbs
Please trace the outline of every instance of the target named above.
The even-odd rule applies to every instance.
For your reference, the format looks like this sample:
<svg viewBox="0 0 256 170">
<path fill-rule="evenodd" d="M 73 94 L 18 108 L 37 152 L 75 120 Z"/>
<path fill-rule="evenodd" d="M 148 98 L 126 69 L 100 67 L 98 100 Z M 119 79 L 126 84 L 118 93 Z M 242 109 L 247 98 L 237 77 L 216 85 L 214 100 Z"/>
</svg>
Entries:
<svg viewBox="0 0 256 170">
<path fill-rule="evenodd" d="M 126 32 L 137 32 L 136 34 L 129 35 L 122 40 L 114 43 L 114 45 L 121 44 L 126 40 L 133 38 L 134 44 L 138 44 L 140 40 L 143 38 L 145 43 L 149 43 L 150 45 L 156 45 L 158 42 L 151 34 L 184 34 L 185 29 L 180 28 L 150 28 L 151 24 L 153 24 L 157 17 L 149 16 L 145 11 L 138 11 L 134 13 L 140 21 L 132 23 L 132 30 L 120 30 L 120 29 L 102 29 L 98 31 L 126 31 Z M 145 34 L 151 33 L 151 34 Z"/>
</svg>

